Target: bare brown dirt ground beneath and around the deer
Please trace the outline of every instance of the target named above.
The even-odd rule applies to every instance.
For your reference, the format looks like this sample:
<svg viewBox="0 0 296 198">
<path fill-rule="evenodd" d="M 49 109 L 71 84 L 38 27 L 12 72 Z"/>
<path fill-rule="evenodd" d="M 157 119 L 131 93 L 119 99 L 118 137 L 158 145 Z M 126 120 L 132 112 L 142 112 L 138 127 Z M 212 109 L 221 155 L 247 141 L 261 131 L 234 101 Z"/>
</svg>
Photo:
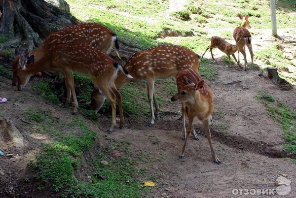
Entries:
<svg viewBox="0 0 296 198">
<path fill-rule="evenodd" d="M 296 165 L 283 159 L 282 131 L 254 97 L 258 90 L 264 91 L 296 110 L 296 91 L 281 91 L 271 80 L 258 76 L 257 70 L 242 71 L 235 65 L 230 68 L 219 58 L 218 63 L 213 64 L 218 77 L 208 84 L 215 97 L 211 131 L 221 165 L 212 162 L 208 141 L 198 121 L 195 121 L 195 129 L 200 141 L 191 136 L 185 159 L 178 159 L 183 145 L 182 122 L 177 121 L 180 104 L 163 107 L 176 114 L 160 113 L 152 127 L 145 126 L 148 118 L 140 118 L 138 123 L 127 122 L 124 129 L 108 135 L 118 142 L 130 141 L 132 151 L 154 159 L 141 164 L 156 175 L 156 187 L 151 189 L 153 197 L 232 197 L 232 189 L 275 188 L 274 182 L 282 174 L 292 181 L 292 191 L 285 197 L 295 197 Z M 28 162 L 34 159 L 48 137 L 30 133 L 30 124 L 22 121 L 22 113 L 29 106 L 42 106 L 61 117 L 68 116 L 71 110 L 47 105 L 46 101 L 35 96 L 32 85 L 36 79 L 28 83 L 25 91 L 18 92 L 11 86 L 11 80 L 0 78 L 0 96 L 8 99 L 8 102 L 0 104 L 1 112 L 13 120 L 25 140 L 24 149 L 17 151 L 6 137 L 0 136 L 0 150 L 12 154 L 11 158 L 0 157 L 0 195 L 42 197 L 44 194 L 35 192 L 31 184 L 26 185 L 24 178 L 30 177 Z M 228 84 L 237 80 L 240 82 Z M 160 86 L 156 85 L 156 93 L 160 93 L 158 90 Z M 163 97 L 169 100 L 167 96 Z M 217 116 L 218 112 L 222 113 L 222 118 Z M 91 122 L 88 124 L 96 128 L 91 126 Z M 103 128 L 109 125 L 103 119 L 99 119 L 98 124 Z M 221 129 L 221 124 L 226 129 Z M 106 134 L 99 131 L 98 139 L 103 139 Z"/>
</svg>

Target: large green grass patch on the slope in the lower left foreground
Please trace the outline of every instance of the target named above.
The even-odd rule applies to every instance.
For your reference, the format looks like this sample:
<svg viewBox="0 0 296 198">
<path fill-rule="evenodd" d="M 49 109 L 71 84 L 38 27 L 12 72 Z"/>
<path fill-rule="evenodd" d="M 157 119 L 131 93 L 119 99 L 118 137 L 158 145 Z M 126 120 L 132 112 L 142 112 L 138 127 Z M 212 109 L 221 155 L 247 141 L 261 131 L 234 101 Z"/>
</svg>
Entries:
<svg viewBox="0 0 296 198">
<path fill-rule="evenodd" d="M 143 172 L 136 169 L 136 161 L 128 157 L 112 159 L 109 150 L 102 150 L 89 164 L 92 169 L 90 182 L 78 181 L 74 173 L 82 163 L 83 152 L 93 145 L 97 132 L 91 131 L 77 117 L 66 123 L 53 124 L 46 118 L 52 118 L 52 114 L 39 108 L 28 109 L 25 115 L 37 124 L 32 129 L 51 136 L 50 143 L 42 146 L 40 155 L 31 163 L 39 186 L 50 185 L 62 197 L 136 198 L 147 192 L 138 180 Z M 124 146 L 127 148 L 128 144 Z M 102 160 L 107 160 L 109 165 L 100 164 Z M 107 176 L 107 179 L 99 179 L 99 174 Z"/>
</svg>

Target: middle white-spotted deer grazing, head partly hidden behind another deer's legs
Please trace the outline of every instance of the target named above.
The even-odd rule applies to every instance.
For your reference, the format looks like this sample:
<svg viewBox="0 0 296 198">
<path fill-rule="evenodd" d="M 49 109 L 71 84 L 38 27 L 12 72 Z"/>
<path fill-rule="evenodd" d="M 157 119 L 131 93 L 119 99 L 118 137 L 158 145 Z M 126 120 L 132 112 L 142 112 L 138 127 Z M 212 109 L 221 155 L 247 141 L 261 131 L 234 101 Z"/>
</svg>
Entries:
<svg viewBox="0 0 296 198">
<path fill-rule="evenodd" d="M 151 110 L 151 120 L 148 126 L 152 126 L 155 119 L 152 99 L 154 100 L 156 115 L 159 112 L 154 90 L 154 80 L 157 78 L 173 78 L 179 71 L 187 68 L 198 71 L 199 63 L 199 56 L 183 46 L 158 45 L 136 52 L 124 66 L 134 78 L 129 79 L 119 74 L 114 81 L 115 87 L 120 89 L 129 82 L 145 82 L 147 84 Z M 100 91 L 94 90 L 91 95 L 91 109 L 98 112 L 105 99 L 106 97 Z"/>
</svg>

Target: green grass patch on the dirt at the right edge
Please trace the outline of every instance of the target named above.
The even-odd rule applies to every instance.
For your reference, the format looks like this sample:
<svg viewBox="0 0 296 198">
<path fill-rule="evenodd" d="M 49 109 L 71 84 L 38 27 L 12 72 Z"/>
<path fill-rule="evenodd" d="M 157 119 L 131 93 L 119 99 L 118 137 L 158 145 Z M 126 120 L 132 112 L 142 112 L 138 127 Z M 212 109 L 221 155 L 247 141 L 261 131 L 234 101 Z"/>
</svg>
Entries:
<svg viewBox="0 0 296 198">
<path fill-rule="evenodd" d="M 266 108 L 268 114 L 276 121 L 283 130 L 283 138 L 286 144 L 283 145 L 287 152 L 296 155 L 296 112 L 274 97 L 259 92 L 256 99 Z"/>
</svg>

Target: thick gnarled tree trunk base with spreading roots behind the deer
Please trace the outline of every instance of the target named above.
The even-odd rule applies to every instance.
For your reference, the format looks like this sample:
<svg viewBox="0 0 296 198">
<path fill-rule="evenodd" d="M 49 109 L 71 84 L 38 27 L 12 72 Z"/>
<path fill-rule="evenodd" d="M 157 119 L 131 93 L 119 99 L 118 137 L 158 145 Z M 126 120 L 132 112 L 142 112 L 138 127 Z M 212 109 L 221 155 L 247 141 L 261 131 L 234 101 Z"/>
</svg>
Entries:
<svg viewBox="0 0 296 198">
<path fill-rule="evenodd" d="M 0 0 L 0 36 L 22 36 L 30 50 L 49 33 L 80 23 L 74 16 L 44 0 Z"/>
</svg>

